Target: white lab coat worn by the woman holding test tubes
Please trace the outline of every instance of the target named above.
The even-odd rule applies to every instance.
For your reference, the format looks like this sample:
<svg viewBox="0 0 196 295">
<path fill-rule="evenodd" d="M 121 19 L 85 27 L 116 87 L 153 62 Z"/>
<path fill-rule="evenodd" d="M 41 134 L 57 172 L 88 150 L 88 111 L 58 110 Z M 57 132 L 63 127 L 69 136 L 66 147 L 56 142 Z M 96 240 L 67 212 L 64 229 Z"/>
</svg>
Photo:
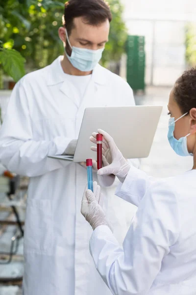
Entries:
<svg viewBox="0 0 196 295">
<path fill-rule="evenodd" d="M 156 180 L 131 168 L 117 195 L 138 206 L 121 248 L 106 226 L 90 240 L 114 295 L 196 294 L 196 170 Z"/>
</svg>

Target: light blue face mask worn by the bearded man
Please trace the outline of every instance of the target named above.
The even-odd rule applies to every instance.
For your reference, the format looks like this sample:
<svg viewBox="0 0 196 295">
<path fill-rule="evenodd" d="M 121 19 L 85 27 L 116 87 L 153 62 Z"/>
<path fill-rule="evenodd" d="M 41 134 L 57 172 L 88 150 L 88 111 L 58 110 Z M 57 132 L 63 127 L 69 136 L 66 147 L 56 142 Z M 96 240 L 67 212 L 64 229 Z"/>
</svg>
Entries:
<svg viewBox="0 0 196 295">
<path fill-rule="evenodd" d="M 98 64 L 99 60 L 101 59 L 104 48 L 101 48 L 98 50 L 90 50 L 86 48 L 74 47 L 70 43 L 67 30 L 65 30 L 65 32 L 66 32 L 68 44 L 70 45 L 72 49 L 72 54 L 70 57 L 67 54 L 66 48 L 65 48 L 65 53 L 69 61 L 72 63 L 72 65 L 76 69 L 82 72 L 92 71 Z"/>
</svg>

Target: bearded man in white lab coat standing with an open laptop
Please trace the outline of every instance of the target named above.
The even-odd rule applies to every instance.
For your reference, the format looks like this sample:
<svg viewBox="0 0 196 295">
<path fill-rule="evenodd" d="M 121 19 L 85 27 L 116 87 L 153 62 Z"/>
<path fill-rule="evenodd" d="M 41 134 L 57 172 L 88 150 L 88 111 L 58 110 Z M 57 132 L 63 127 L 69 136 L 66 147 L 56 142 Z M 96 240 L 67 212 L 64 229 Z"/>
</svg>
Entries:
<svg viewBox="0 0 196 295">
<path fill-rule="evenodd" d="M 111 294 L 89 254 L 92 229 L 80 214 L 86 170 L 48 158 L 74 153 L 86 107 L 135 104 L 128 84 L 98 64 L 110 21 L 103 0 L 70 0 L 59 29 L 64 56 L 17 83 L 0 129 L 1 162 L 30 177 L 25 295 Z"/>
</svg>

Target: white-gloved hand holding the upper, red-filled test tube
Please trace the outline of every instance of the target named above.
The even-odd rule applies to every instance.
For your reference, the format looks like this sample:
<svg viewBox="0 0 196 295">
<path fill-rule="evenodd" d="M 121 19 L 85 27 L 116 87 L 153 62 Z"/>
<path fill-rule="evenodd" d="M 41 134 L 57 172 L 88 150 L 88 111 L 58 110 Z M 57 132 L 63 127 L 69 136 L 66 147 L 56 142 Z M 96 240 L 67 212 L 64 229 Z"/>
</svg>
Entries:
<svg viewBox="0 0 196 295">
<path fill-rule="evenodd" d="M 98 133 L 103 135 L 102 162 L 105 166 L 98 170 L 98 175 L 114 174 L 123 182 L 130 170 L 130 164 L 123 157 L 122 152 L 107 132 L 98 129 Z M 92 135 L 90 137 L 91 142 L 97 144 L 97 133 L 93 133 Z M 97 152 L 97 147 L 92 147 L 91 149 Z"/>
</svg>

